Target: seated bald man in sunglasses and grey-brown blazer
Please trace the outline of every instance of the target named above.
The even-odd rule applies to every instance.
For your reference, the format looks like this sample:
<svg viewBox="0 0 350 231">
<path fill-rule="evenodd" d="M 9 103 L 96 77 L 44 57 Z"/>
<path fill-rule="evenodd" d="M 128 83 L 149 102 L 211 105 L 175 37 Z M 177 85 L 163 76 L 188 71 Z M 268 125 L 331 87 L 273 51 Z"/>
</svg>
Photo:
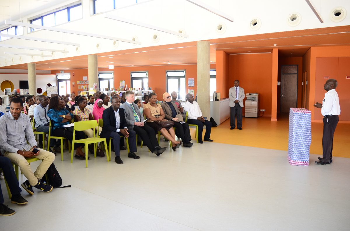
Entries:
<svg viewBox="0 0 350 231">
<path fill-rule="evenodd" d="M 190 127 L 187 123 L 181 124 L 179 121 L 183 122 L 182 114 L 179 111 L 177 105 L 172 101 L 172 96 L 165 92 L 163 94 L 164 103 L 161 104 L 163 112 L 165 114 L 165 119 L 173 120 L 174 126 L 176 128 L 176 132 L 180 135 L 183 146 L 184 147 L 192 147 L 193 143 L 191 143 L 191 135 L 190 135 Z M 177 116 L 179 115 L 179 116 Z M 177 118 L 178 117 L 178 118 Z M 179 119 L 180 118 L 180 119 Z"/>
</svg>

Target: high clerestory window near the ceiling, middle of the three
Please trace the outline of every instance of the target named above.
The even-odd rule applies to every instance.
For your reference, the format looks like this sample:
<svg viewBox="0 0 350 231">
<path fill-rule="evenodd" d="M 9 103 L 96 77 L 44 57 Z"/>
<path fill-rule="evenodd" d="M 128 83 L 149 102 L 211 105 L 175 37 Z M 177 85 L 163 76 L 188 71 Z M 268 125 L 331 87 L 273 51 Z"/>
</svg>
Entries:
<svg viewBox="0 0 350 231">
<path fill-rule="evenodd" d="M 69 21 L 77 20 L 79 18 L 83 18 L 83 8 L 81 3 L 75 6 L 55 11 L 47 15 L 40 16 L 38 18 L 34 18 L 33 20 L 30 20 L 30 23 L 34 25 L 53 27 L 54 25 L 59 25 Z M 30 32 L 37 30 L 40 29 L 30 28 Z"/>
</svg>

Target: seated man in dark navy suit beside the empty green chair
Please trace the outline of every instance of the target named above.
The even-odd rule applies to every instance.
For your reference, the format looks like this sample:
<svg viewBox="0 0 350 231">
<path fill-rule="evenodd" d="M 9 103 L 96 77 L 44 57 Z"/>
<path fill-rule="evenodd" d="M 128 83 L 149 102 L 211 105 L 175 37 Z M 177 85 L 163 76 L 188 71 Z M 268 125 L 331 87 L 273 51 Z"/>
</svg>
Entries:
<svg viewBox="0 0 350 231">
<path fill-rule="evenodd" d="M 109 140 L 110 137 L 113 138 L 113 146 L 114 146 L 114 151 L 116 153 L 116 157 L 114 158 L 114 161 L 117 164 L 124 164 L 123 161 L 120 159 L 120 153 L 119 153 L 120 152 L 119 143 L 120 143 L 121 135 L 128 137 L 129 139 L 130 152 L 128 157 L 134 158 L 134 159 L 139 159 L 140 157 L 135 155 L 134 153 L 137 151 L 136 133 L 132 130 L 128 130 L 124 109 L 119 107 L 120 107 L 120 98 L 113 96 L 112 106 L 105 109 L 102 114 L 103 128 L 100 136 L 103 138 L 106 138 L 106 140 Z"/>
</svg>

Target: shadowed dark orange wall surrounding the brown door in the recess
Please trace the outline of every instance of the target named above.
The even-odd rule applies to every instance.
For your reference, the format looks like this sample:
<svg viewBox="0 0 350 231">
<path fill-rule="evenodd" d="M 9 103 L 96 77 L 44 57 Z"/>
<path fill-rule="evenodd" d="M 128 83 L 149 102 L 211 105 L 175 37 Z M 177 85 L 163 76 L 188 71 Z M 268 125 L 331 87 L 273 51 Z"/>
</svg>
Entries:
<svg viewBox="0 0 350 231">
<path fill-rule="evenodd" d="M 297 85 L 297 107 L 301 107 L 303 58 L 302 57 L 279 57 L 278 59 L 278 81 L 281 81 L 282 65 L 298 65 L 298 85 Z M 277 112 L 280 112 L 281 86 L 277 86 Z"/>
</svg>

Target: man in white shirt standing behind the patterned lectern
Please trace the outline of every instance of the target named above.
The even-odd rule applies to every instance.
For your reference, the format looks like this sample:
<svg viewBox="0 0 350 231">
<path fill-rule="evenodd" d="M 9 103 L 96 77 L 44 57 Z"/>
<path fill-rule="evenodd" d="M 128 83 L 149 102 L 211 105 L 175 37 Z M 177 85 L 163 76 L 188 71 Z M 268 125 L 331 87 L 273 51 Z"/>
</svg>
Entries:
<svg viewBox="0 0 350 231">
<path fill-rule="evenodd" d="M 314 106 L 321 108 L 323 115 L 323 136 L 322 136 L 322 150 L 323 156 L 318 157 L 320 161 L 315 161 L 316 164 L 330 164 L 332 163 L 333 151 L 333 135 L 337 127 L 340 114 L 340 105 L 338 93 L 335 91 L 338 81 L 329 79 L 323 86 L 327 92 L 324 94 L 322 104 L 315 103 Z"/>
</svg>

